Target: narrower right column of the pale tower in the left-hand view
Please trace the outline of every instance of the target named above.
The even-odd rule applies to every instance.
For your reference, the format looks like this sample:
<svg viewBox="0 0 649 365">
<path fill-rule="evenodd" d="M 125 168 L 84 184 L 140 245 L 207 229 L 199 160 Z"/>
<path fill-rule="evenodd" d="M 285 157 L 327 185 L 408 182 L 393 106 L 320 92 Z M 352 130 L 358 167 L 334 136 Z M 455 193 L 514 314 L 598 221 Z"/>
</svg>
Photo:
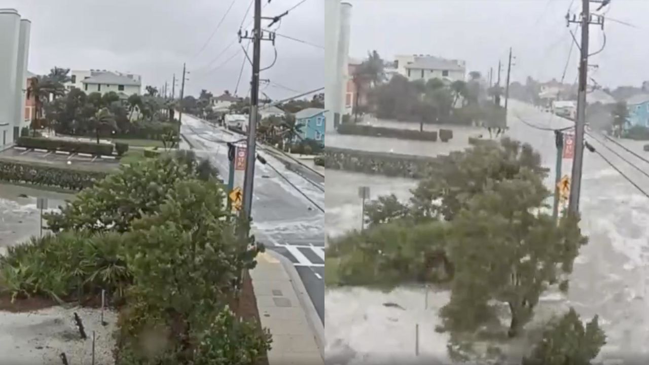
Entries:
<svg viewBox="0 0 649 365">
<path fill-rule="evenodd" d="M 14 134 L 25 125 L 25 97 L 27 96 L 27 64 L 29 63 L 29 34 L 31 32 L 31 21 L 21 19 L 20 32 L 18 36 L 18 58 L 16 65 L 16 92 L 14 105 Z M 17 136 L 14 136 L 16 138 Z"/>
</svg>

